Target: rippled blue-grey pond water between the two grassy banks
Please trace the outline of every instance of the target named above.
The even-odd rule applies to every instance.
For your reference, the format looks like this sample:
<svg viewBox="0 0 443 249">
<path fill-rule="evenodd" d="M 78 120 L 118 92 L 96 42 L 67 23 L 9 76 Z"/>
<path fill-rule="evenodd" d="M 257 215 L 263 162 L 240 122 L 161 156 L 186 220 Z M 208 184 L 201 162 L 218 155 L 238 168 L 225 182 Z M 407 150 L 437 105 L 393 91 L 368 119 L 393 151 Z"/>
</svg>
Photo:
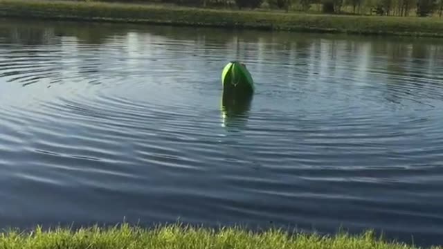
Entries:
<svg viewBox="0 0 443 249">
<path fill-rule="evenodd" d="M 253 100 L 221 105 L 231 59 Z M 441 40 L 0 23 L 0 221 L 443 243 Z"/>
</svg>

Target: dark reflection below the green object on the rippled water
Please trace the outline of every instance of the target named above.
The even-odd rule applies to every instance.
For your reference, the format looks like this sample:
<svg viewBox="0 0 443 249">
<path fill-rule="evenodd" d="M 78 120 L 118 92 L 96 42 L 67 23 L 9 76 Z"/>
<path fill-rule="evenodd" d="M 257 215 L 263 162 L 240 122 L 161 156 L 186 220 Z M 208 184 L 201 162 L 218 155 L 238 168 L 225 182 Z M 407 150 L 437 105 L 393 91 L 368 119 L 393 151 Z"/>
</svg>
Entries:
<svg viewBox="0 0 443 249">
<path fill-rule="evenodd" d="M 221 95 L 223 126 L 229 131 L 238 131 L 246 127 L 252 100 L 252 93 L 241 95 L 223 93 Z"/>
</svg>

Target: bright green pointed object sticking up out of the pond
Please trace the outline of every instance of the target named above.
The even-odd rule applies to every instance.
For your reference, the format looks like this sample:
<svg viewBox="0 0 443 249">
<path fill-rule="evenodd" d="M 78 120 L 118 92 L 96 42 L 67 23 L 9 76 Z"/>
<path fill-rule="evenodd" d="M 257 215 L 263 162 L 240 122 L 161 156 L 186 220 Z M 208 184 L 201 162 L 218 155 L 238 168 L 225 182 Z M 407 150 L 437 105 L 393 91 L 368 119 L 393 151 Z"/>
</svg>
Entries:
<svg viewBox="0 0 443 249">
<path fill-rule="evenodd" d="M 244 64 L 237 61 L 226 64 L 221 73 L 221 82 L 224 94 L 250 94 L 255 89 L 251 73 Z"/>
</svg>

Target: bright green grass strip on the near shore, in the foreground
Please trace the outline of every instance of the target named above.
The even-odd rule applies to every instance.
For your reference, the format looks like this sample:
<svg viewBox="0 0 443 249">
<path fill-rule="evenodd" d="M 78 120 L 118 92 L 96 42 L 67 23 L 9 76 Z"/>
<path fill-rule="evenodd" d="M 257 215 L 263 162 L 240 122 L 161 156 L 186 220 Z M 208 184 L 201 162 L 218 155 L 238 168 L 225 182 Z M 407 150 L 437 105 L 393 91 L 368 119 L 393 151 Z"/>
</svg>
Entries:
<svg viewBox="0 0 443 249">
<path fill-rule="evenodd" d="M 153 229 L 142 229 L 124 223 L 114 228 L 99 228 L 97 226 L 78 230 L 57 228 L 46 232 L 37 228 L 35 231 L 27 233 L 7 232 L 0 237 L 0 248 L 409 249 L 415 247 L 403 243 L 382 241 L 377 239 L 372 232 L 365 232 L 359 236 L 342 233 L 334 237 L 324 237 L 318 234 L 301 233 L 289 235 L 282 230 L 253 233 L 239 228 L 222 228 L 216 231 L 183 225 L 165 225 Z"/>
</svg>

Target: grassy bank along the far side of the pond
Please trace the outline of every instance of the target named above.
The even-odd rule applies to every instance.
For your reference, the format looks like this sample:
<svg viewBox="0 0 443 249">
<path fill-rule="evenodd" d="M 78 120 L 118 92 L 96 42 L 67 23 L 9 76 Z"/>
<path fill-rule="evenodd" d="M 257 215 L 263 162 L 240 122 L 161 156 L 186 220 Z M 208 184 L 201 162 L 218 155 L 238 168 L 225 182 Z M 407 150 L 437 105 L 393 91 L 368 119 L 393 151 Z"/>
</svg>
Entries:
<svg viewBox="0 0 443 249">
<path fill-rule="evenodd" d="M 0 17 L 443 37 L 443 20 L 438 18 L 309 15 L 80 1 L 0 0 Z"/>
</svg>

